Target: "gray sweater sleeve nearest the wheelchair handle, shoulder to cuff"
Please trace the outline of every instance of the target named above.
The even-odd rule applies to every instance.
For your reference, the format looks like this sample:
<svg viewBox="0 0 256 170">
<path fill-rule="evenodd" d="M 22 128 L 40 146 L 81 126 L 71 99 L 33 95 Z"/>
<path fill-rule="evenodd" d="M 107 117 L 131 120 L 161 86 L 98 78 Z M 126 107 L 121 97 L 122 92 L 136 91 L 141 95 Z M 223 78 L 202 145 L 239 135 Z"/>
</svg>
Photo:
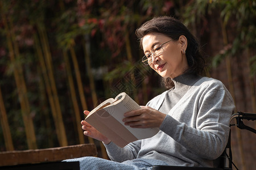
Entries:
<svg viewBox="0 0 256 170">
<path fill-rule="evenodd" d="M 197 100 L 183 109 L 191 116 L 192 122 L 195 121 L 193 126 L 167 114 L 160 130 L 190 152 L 213 160 L 222 154 L 228 142 L 229 120 L 234 111 L 233 99 L 225 89 L 220 89 L 205 92 Z"/>
</svg>

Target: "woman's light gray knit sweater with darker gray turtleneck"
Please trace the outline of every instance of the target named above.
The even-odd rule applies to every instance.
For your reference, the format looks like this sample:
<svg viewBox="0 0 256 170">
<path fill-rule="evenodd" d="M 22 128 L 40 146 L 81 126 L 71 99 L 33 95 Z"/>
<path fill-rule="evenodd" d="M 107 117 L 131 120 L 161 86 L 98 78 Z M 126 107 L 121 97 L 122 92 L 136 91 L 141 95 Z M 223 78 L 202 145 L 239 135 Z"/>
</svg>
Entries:
<svg viewBox="0 0 256 170">
<path fill-rule="evenodd" d="M 220 81 L 183 74 L 173 79 L 175 87 L 154 97 L 147 105 L 167 116 L 154 137 L 120 148 L 105 145 L 116 162 L 144 158 L 169 165 L 216 167 L 229 135 L 234 112 L 232 96 Z"/>
</svg>

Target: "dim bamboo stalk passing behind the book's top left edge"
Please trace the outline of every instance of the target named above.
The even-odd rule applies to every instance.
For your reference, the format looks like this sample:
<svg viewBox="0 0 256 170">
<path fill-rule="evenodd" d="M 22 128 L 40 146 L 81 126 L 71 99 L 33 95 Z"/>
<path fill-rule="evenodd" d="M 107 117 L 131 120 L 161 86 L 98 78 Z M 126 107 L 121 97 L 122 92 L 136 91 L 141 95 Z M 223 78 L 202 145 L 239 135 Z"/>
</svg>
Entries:
<svg viewBox="0 0 256 170">
<path fill-rule="evenodd" d="M 85 36 L 85 39 L 88 39 L 88 35 Z M 86 70 L 87 70 L 87 74 L 89 77 L 90 90 L 92 91 L 93 105 L 94 105 L 94 107 L 96 107 L 97 106 L 97 94 L 96 94 L 96 88 L 95 88 L 95 84 L 94 84 L 92 70 L 90 67 L 89 44 L 88 44 L 87 40 L 82 41 L 82 46 L 84 49 L 85 65 L 86 65 Z M 108 155 L 106 154 L 106 148 L 104 147 L 102 142 L 100 142 L 100 147 L 101 147 L 102 158 L 108 159 Z"/>
</svg>

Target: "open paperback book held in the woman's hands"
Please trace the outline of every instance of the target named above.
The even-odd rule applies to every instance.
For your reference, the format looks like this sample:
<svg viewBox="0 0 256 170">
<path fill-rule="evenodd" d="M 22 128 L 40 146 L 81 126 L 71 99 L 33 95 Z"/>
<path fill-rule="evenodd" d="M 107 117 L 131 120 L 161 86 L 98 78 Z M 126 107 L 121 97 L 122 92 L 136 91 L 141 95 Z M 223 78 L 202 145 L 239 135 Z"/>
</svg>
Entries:
<svg viewBox="0 0 256 170">
<path fill-rule="evenodd" d="M 117 95 L 115 99 L 105 100 L 94 108 L 85 121 L 108 137 L 119 147 L 139 139 L 150 138 L 158 133 L 159 128 L 130 128 L 122 121 L 123 114 L 141 109 L 125 92 Z"/>
</svg>

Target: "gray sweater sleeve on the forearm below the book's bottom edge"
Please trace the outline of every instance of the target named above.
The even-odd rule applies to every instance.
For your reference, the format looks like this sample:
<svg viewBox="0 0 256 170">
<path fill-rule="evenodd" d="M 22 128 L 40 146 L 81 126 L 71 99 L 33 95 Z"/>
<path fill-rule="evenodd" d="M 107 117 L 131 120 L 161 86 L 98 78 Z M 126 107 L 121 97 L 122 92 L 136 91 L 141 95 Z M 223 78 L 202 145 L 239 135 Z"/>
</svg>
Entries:
<svg viewBox="0 0 256 170">
<path fill-rule="evenodd" d="M 111 160 L 114 160 L 115 162 L 124 162 L 126 160 L 137 158 L 138 152 L 141 149 L 141 140 L 131 142 L 123 148 L 115 145 L 113 142 L 105 145 L 105 147 Z"/>
</svg>

